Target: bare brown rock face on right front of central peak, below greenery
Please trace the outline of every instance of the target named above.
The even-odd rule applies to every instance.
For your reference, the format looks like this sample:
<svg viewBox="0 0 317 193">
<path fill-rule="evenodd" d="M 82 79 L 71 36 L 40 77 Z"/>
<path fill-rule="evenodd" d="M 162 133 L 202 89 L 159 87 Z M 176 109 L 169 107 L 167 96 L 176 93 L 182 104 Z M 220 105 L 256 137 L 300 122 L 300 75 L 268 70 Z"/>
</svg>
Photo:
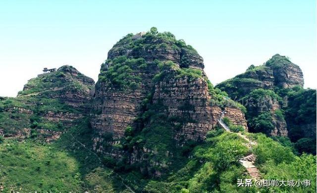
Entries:
<svg viewBox="0 0 317 193">
<path fill-rule="evenodd" d="M 240 109 L 211 106 L 211 97 L 204 78 L 183 77 L 163 80 L 155 85 L 153 102 L 160 101 L 161 105 L 166 106 L 168 116 L 187 120 L 182 128 L 175 132 L 174 139 L 178 141 L 205 139 L 207 132 L 217 125 L 217 119 L 223 110 L 226 112 L 225 117 L 228 117 L 232 124 L 242 125 L 247 129 L 244 113 Z"/>
</svg>

